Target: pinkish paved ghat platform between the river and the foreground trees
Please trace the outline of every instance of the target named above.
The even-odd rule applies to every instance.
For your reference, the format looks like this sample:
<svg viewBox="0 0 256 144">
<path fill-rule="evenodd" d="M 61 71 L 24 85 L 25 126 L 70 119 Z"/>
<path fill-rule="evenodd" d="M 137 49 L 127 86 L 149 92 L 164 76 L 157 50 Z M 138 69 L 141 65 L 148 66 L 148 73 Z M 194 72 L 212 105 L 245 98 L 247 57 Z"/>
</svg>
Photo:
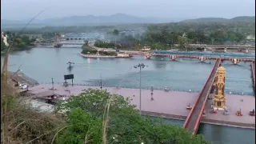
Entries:
<svg viewBox="0 0 256 144">
<path fill-rule="evenodd" d="M 49 90 L 51 85 L 39 85 L 30 88 L 31 94 L 42 93 L 43 91 Z M 93 86 L 54 86 L 54 94 L 67 95 L 78 95 L 82 90 L 87 88 L 96 88 Z M 120 94 L 124 97 L 130 97 L 131 104 L 139 105 L 139 90 L 138 89 L 125 89 L 125 88 L 110 88 L 104 87 L 110 93 Z M 163 118 L 174 118 L 185 120 L 190 110 L 186 110 L 186 106 L 190 103 L 194 104 L 198 98 L 197 93 L 178 92 L 170 91 L 165 92 L 164 90 L 154 90 L 153 98 L 151 101 L 150 90 L 142 90 L 142 114 L 151 116 L 162 116 Z M 61 98 L 60 98 L 61 99 Z M 229 113 L 228 115 L 222 114 L 222 111 L 218 111 L 217 114 L 210 114 L 210 104 L 212 100 L 208 100 L 206 103 L 206 118 L 202 118 L 202 123 L 209 123 L 214 125 L 222 126 L 234 126 L 242 128 L 255 129 L 255 118 L 249 115 L 249 111 L 255 108 L 255 97 L 250 95 L 233 95 L 227 94 L 227 106 Z M 241 99 L 243 102 L 241 102 Z M 236 111 L 241 108 L 242 117 L 236 116 Z"/>
</svg>

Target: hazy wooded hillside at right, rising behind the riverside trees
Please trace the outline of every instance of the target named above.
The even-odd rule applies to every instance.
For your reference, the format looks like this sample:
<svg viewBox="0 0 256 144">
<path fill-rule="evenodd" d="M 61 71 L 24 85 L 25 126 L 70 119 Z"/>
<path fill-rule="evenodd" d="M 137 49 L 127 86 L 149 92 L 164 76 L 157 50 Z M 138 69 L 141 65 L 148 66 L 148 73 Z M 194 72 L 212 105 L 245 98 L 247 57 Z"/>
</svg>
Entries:
<svg viewBox="0 0 256 144">
<path fill-rule="evenodd" d="M 170 22 L 151 24 L 148 30 L 159 32 L 162 30 L 184 32 L 187 30 L 202 30 L 210 34 L 214 30 L 226 30 L 239 32 L 246 35 L 255 35 L 255 17 L 235 17 L 227 18 L 197 18 L 188 19 L 182 22 Z"/>
</svg>

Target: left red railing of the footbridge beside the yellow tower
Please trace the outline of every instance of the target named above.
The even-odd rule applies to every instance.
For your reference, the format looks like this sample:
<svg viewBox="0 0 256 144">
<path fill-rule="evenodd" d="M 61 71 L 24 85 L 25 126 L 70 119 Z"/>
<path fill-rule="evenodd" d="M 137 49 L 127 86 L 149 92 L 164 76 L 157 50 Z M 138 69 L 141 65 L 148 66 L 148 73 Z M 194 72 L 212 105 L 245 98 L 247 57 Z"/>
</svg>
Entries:
<svg viewBox="0 0 256 144">
<path fill-rule="evenodd" d="M 216 62 L 215 62 L 215 64 L 214 64 L 214 67 L 217 66 L 217 64 L 218 64 L 218 60 L 216 60 Z M 192 109 L 190 110 L 190 114 L 186 117 L 186 121 L 184 122 L 184 125 L 183 125 L 183 127 L 185 127 L 185 128 L 186 128 L 188 122 L 190 122 L 191 115 L 192 115 L 193 112 L 194 112 L 194 107 L 198 104 L 198 100 L 199 100 L 199 98 L 201 98 L 201 96 L 202 96 L 202 91 L 206 88 L 206 83 L 209 81 L 210 76 L 211 76 L 211 74 L 213 73 L 214 67 L 213 67 L 213 69 L 211 70 L 211 72 L 210 72 L 210 74 L 209 74 L 209 77 L 207 78 L 207 80 L 206 80 L 204 86 L 202 87 L 202 90 L 200 91 L 200 94 L 198 94 L 198 98 L 197 98 L 196 102 L 194 102 L 194 105 L 193 105 Z"/>
</svg>

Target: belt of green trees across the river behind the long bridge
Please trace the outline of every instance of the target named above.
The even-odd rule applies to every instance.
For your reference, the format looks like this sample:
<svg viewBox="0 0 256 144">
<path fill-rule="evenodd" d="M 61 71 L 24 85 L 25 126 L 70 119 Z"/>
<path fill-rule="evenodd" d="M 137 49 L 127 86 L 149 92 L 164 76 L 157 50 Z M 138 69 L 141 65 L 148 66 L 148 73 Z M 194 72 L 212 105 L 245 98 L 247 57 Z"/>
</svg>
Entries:
<svg viewBox="0 0 256 144">
<path fill-rule="evenodd" d="M 199 24 L 197 24 L 199 25 Z M 201 29 L 186 29 L 182 27 L 181 29 L 173 29 L 174 25 L 152 25 L 148 27 L 145 34 L 140 37 L 134 38 L 131 35 L 125 36 L 118 34 L 112 38 L 119 38 L 116 41 L 117 48 L 129 48 L 134 49 L 143 46 L 150 46 L 153 49 L 158 50 L 169 50 L 169 49 L 179 49 L 179 50 L 189 50 L 185 47 L 187 44 L 209 44 L 209 45 L 223 45 L 226 42 L 233 44 L 241 44 L 245 42 L 246 35 L 235 30 L 226 29 L 213 29 L 213 30 L 203 30 Z M 175 26 L 174 26 L 175 27 Z M 99 43 L 100 41 L 98 41 Z M 95 44 L 94 46 L 103 47 L 103 45 Z M 102 42 L 103 43 L 103 42 Z M 106 45 L 109 43 L 106 43 Z M 178 44 L 178 46 L 176 45 Z"/>
</svg>

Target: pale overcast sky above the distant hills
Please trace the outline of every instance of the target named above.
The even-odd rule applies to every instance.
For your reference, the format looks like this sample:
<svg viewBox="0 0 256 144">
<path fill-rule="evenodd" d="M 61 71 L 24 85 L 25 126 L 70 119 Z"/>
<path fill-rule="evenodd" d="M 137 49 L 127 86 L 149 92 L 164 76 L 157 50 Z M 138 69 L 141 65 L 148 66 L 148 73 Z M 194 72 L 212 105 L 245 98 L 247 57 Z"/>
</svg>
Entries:
<svg viewBox="0 0 256 144">
<path fill-rule="evenodd" d="M 159 18 L 254 16 L 255 0 L 1 0 L 1 18 L 58 18 L 116 13 Z"/>
</svg>

